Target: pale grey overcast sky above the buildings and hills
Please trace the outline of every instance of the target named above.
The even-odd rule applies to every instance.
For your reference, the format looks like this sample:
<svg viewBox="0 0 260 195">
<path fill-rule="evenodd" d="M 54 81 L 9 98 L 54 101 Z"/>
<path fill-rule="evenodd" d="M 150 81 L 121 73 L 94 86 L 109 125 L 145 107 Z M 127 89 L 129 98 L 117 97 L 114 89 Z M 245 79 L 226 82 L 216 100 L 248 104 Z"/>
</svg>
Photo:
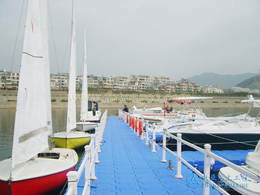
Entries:
<svg viewBox="0 0 260 195">
<path fill-rule="evenodd" d="M 58 60 L 57 66 L 49 21 L 50 72 L 56 73 L 58 67 L 68 72 L 72 0 L 48 1 Z M 12 71 L 21 63 L 27 2 Z M 0 68 L 7 70 L 22 4 L 23 0 L 0 0 Z M 84 26 L 88 73 L 96 75 L 179 79 L 203 72 L 256 73 L 260 68 L 259 0 L 75 0 L 75 12 L 77 74 L 83 70 Z"/>
</svg>

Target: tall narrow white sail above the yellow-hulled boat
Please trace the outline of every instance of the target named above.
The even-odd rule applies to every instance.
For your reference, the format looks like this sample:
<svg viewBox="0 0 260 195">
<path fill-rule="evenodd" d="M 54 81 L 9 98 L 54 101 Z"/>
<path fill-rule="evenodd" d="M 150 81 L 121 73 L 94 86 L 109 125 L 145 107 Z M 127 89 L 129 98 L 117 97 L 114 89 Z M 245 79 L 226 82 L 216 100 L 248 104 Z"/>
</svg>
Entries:
<svg viewBox="0 0 260 195">
<path fill-rule="evenodd" d="M 67 112 L 67 132 L 76 128 L 76 36 L 75 36 L 75 10 L 74 0 L 72 9 L 72 33 L 70 46 L 70 67 L 69 67 L 69 92 Z"/>
</svg>

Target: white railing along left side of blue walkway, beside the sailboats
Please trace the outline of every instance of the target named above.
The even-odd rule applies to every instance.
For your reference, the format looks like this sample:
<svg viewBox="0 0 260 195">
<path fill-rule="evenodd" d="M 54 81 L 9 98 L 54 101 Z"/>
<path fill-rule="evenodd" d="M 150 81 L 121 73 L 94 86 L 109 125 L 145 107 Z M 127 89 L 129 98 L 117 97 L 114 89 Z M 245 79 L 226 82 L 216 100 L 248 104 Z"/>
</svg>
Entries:
<svg viewBox="0 0 260 195">
<path fill-rule="evenodd" d="M 95 163 L 99 163 L 98 153 L 101 152 L 100 145 L 103 140 L 103 132 L 105 130 L 107 120 L 107 110 L 103 113 L 98 127 L 95 128 L 95 134 L 90 135 L 89 145 L 85 146 L 85 157 L 81 162 L 78 171 L 69 171 L 68 177 L 68 191 L 66 195 L 77 195 L 77 183 L 85 170 L 85 185 L 82 195 L 90 194 L 90 180 L 98 179 L 95 176 Z"/>
</svg>

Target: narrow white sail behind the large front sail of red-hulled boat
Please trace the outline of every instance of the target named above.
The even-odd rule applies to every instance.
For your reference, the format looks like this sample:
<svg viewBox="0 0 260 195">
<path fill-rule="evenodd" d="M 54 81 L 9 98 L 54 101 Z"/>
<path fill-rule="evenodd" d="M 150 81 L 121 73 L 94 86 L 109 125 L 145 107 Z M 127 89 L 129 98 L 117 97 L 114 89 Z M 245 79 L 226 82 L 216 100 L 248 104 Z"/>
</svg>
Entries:
<svg viewBox="0 0 260 195">
<path fill-rule="evenodd" d="M 49 60 L 49 36 L 47 22 L 47 0 L 39 1 L 42 28 L 42 47 L 43 47 L 43 63 L 45 74 L 45 90 L 46 90 L 46 108 L 47 108 L 47 125 L 48 133 L 52 133 L 51 121 L 51 94 L 50 94 L 50 60 Z"/>
</svg>

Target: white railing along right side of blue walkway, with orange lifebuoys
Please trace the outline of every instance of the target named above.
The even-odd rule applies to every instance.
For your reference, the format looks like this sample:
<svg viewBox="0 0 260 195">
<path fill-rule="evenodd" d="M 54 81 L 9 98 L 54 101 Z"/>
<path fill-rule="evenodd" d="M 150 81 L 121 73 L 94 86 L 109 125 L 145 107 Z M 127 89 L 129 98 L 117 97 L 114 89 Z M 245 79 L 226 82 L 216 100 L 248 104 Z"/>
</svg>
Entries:
<svg viewBox="0 0 260 195">
<path fill-rule="evenodd" d="M 127 119 L 126 119 L 127 116 L 129 118 L 131 117 L 131 115 L 128 115 L 128 113 L 123 112 L 122 110 L 119 110 L 118 112 L 119 112 L 119 117 L 122 118 L 125 121 L 127 121 Z M 136 119 L 134 118 L 134 120 L 136 120 Z M 137 121 L 140 121 L 140 119 L 137 119 Z M 129 123 L 130 122 L 131 121 L 129 119 Z M 156 152 L 156 150 L 155 150 L 155 123 L 153 123 L 153 125 L 150 125 L 150 124 L 148 124 L 148 121 L 146 121 L 146 143 L 145 143 L 145 145 L 148 145 L 148 140 L 149 140 L 147 129 L 148 129 L 149 132 L 153 132 L 153 139 L 152 139 L 153 149 L 152 149 L 151 152 Z M 191 144 L 188 141 L 181 139 L 180 133 L 178 133 L 177 136 L 174 136 L 171 133 L 167 132 L 167 129 L 165 127 L 163 129 L 164 130 L 163 130 L 163 141 L 162 141 L 162 159 L 160 160 L 160 162 L 167 162 L 166 151 L 168 151 L 170 154 L 174 155 L 177 159 L 177 174 L 174 177 L 179 178 L 179 179 L 183 178 L 183 176 L 181 175 L 181 162 L 182 162 L 187 167 L 189 167 L 193 172 L 195 172 L 199 177 L 204 179 L 203 195 L 209 195 L 210 186 L 214 187 L 221 194 L 230 195 L 228 192 L 226 192 L 220 186 L 218 186 L 214 181 L 210 180 L 211 158 L 216 159 L 219 162 L 222 162 L 226 166 L 229 166 L 229 167 L 235 169 L 236 171 L 239 171 L 240 173 L 242 173 L 244 175 L 247 175 L 248 177 L 256 180 L 257 182 L 260 182 L 260 178 L 256 174 L 254 174 L 254 173 L 246 170 L 245 168 L 238 166 L 238 165 L 236 165 L 236 164 L 234 164 L 234 163 L 232 163 L 232 162 L 230 162 L 230 161 L 228 161 L 224 158 L 221 158 L 218 155 L 212 153 L 210 144 L 205 144 L 204 149 L 203 149 L 203 148 L 200 148 L 200 147 L 198 147 L 194 144 Z M 171 149 L 166 147 L 166 135 L 177 141 L 177 154 L 175 152 L 171 151 Z M 196 149 L 197 151 L 204 153 L 204 174 L 199 172 L 196 168 L 194 168 L 191 164 L 189 164 L 186 160 L 184 160 L 181 157 L 181 143 L 188 145 L 188 146 Z"/>
</svg>

